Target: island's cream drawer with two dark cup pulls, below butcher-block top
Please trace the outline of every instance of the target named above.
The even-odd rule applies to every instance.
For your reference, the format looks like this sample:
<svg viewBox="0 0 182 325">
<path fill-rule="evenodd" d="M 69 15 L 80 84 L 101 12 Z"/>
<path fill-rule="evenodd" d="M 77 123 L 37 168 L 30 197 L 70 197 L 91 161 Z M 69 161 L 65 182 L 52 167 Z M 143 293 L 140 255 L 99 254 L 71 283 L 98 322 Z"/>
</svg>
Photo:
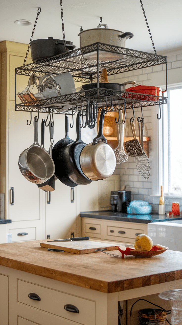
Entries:
<svg viewBox="0 0 182 325">
<path fill-rule="evenodd" d="M 32 292 L 41 300 L 30 299 Z M 96 303 L 71 294 L 18 280 L 18 302 L 81 324 L 95 325 Z M 79 313 L 65 310 L 64 306 L 68 304 L 76 306 Z"/>
</svg>

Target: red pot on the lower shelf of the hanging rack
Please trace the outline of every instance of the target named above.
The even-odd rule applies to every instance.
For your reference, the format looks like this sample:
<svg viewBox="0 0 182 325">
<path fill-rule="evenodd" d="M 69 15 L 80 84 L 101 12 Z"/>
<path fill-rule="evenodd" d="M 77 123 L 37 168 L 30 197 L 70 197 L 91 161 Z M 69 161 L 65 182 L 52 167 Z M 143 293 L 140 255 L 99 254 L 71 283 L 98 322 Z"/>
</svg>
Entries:
<svg viewBox="0 0 182 325">
<path fill-rule="evenodd" d="M 147 94 L 147 95 L 152 95 L 152 96 L 162 96 L 162 89 L 160 87 L 154 87 L 154 86 L 146 86 L 146 85 L 138 85 L 136 87 L 130 87 L 127 88 L 126 91 L 129 91 L 131 93 L 138 93 L 138 94 Z M 137 99 L 137 94 L 136 98 Z M 150 100 L 150 101 L 155 101 L 158 100 L 159 98 L 154 97 L 151 99 L 148 98 L 148 96 L 143 96 L 142 98 L 140 97 L 141 100 Z"/>
</svg>

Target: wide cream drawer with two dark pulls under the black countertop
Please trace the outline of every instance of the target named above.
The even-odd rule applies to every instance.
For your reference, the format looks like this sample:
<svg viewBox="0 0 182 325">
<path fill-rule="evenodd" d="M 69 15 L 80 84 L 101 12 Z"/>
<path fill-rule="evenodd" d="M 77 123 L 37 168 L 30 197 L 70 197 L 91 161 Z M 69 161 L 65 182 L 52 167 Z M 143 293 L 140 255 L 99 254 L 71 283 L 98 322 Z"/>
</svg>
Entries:
<svg viewBox="0 0 182 325">
<path fill-rule="evenodd" d="M 124 227 L 107 226 L 107 236 L 122 237 L 122 238 L 136 238 L 136 233 L 143 234 L 143 229 L 130 229 Z"/>
</svg>

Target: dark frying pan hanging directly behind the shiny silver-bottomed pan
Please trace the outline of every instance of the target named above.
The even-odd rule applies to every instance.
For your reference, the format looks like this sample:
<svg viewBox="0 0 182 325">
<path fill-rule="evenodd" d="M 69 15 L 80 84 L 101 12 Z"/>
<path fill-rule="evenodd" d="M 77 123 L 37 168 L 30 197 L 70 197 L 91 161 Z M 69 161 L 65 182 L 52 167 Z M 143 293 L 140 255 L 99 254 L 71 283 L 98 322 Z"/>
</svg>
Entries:
<svg viewBox="0 0 182 325">
<path fill-rule="evenodd" d="M 86 146 L 86 143 L 81 140 L 80 112 L 77 114 L 76 130 L 76 141 L 63 149 L 62 161 L 69 179 L 76 184 L 86 185 L 90 184 L 92 180 L 83 174 L 79 162 L 80 152 Z"/>
</svg>

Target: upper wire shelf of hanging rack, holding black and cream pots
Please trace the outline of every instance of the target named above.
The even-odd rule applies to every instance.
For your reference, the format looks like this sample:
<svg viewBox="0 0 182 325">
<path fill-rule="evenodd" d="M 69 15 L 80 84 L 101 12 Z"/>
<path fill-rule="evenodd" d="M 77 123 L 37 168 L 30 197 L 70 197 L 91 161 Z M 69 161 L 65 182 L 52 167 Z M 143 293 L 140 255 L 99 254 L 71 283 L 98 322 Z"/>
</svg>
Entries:
<svg viewBox="0 0 182 325">
<path fill-rule="evenodd" d="M 89 53 L 96 53 L 97 57 L 101 51 L 105 52 L 106 58 L 107 53 L 113 53 L 118 54 L 120 59 L 99 61 L 98 67 L 97 59 L 88 59 L 88 57 Z M 112 75 L 166 63 L 165 56 L 97 42 L 46 60 L 16 68 L 15 73 L 30 76 L 34 72 L 36 75 L 42 76 L 46 73 L 59 74 L 70 72 L 75 81 L 89 83 L 92 79 L 97 78 L 98 68 L 100 76 L 103 68 L 107 69 L 108 75 Z"/>
</svg>

